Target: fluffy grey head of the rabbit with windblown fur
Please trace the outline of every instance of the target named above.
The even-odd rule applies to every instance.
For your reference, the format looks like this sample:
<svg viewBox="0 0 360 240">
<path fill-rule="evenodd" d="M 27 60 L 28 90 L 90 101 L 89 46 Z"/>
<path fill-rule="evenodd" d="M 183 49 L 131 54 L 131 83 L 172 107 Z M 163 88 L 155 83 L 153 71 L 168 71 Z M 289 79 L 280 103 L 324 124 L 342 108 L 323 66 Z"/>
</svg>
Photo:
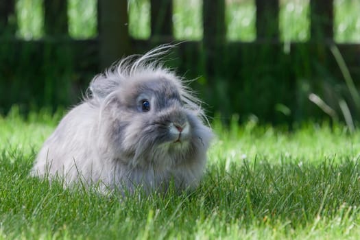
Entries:
<svg viewBox="0 0 360 240">
<path fill-rule="evenodd" d="M 87 101 L 99 108 L 99 144 L 132 167 L 191 164 L 205 158 L 212 137 L 200 101 L 154 59 L 167 49 L 125 58 L 89 88 Z"/>
</svg>

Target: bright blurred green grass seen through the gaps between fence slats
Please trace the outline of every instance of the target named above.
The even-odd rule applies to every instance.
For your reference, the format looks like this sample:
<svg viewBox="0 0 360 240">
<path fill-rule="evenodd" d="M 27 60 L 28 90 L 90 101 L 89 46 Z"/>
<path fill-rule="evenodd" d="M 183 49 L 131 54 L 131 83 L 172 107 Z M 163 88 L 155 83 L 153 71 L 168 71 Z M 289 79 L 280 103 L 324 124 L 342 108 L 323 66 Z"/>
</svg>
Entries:
<svg viewBox="0 0 360 240">
<path fill-rule="evenodd" d="M 43 36 L 43 5 L 41 0 L 17 0 L 19 23 L 17 35 L 32 39 Z M 97 0 L 69 0 L 69 34 L 73 38 L 97 35 Z M 335 40 L 359 42 L 359 0 L 335 0 Z M 252 41 L 255 32 L 254 0 L 226 0 L 228 40 Z M 309 39 L 309 0 L 280 0 L 280 38 L 289 41 Z M 129 31 L 134 38 L 150 36 L 149 0 L 129 1 Z M 173 0 L 173 31 L 176 39 L 202 39 L 202 0 Z"/>
</svg>

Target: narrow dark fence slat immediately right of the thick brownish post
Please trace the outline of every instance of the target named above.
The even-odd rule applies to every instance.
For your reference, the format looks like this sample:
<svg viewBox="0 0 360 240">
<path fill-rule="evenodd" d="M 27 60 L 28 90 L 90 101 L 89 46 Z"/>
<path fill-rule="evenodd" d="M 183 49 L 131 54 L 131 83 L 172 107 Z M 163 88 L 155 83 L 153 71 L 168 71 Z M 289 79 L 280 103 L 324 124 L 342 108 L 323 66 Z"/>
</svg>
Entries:
<svg viewBox="0 0 360 240">
<path fill-rule="evenodd" d="M 173 36 L 173 1 L 151 0 L 152 38 L 172 38 Z"/>
</svg>

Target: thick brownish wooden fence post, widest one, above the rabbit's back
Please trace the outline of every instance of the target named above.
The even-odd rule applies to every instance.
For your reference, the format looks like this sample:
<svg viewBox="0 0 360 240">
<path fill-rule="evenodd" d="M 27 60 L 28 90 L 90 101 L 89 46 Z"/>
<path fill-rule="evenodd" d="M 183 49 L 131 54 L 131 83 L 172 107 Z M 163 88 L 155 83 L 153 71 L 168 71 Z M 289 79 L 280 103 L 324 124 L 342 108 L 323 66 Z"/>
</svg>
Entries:
<svg viewBox="0 0 360 240">
<path fill-rule="evenodd" d="M 98 0 L 98 32 L 100 67 L 112 63 L 131 51 L 128 32 L 128 2 L 124 0 Z"/>
</svg>

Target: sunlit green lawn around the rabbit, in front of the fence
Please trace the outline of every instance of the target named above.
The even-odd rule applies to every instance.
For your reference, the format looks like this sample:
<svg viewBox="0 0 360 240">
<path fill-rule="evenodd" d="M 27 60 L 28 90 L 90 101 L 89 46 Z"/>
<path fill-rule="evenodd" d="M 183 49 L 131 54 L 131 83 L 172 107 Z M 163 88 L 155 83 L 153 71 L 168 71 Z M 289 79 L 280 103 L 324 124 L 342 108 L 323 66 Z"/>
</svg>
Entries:
<svg viewBox="0 0 360 240">
<path fill-rule="evenodd" d="M 190 194 L 103 196 L 30 178 L 60 114 L 0 117 L 0 239 L 356 239 L 360 132 L 309 123 L 294 132 L 218 121 Z"/>
</svg>

